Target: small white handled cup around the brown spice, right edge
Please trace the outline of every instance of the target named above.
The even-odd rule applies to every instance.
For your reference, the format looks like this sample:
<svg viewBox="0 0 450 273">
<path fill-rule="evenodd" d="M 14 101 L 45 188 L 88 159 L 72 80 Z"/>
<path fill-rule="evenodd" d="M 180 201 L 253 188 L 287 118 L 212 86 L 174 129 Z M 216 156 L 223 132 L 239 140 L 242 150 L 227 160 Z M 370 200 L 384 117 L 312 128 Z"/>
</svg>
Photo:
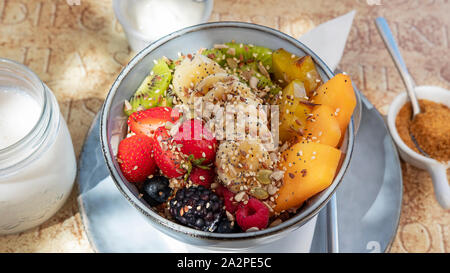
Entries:
<svg viewBox="0 0 450 273">
<path fill-rule="evenodd" d="M 416 95 L 419 99 L 426 99 L 442 103 L 450 107 L 450 91 L 437 86 L 417 86 Z M 395 119 L 400 109 L 409 103 L 406 92 L 399 94 L 391 103 L 387 115 L 387 123 L 394 142 L 397 144 L 400 156 L 411 165 L 427 170 L 433 181 L 436 199 L 444 209 L 450 209 L 450 186 L 447 179 L 447 164 L 425 157 L 409 148 L 400 138 L 395 126 Z M 450 137 L 450 136 L 449 136 Z"/>
</svg>

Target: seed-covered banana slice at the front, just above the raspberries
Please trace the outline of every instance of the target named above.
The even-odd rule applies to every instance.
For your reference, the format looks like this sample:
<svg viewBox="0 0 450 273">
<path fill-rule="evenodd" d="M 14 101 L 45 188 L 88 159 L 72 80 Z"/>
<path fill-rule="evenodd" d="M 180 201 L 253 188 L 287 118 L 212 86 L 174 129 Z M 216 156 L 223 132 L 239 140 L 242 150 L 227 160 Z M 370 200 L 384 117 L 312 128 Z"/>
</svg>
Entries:
<svg viewBox="0 0 450 273">
<path fill-rule="evenodd" d="M 258 140 L 226 140 L 217 151 L 217 175 L 234 193 L 261 187 L 255 176 L 259 170 L 272 169 L 272 165 L 269 152 Z"/>
</svg>

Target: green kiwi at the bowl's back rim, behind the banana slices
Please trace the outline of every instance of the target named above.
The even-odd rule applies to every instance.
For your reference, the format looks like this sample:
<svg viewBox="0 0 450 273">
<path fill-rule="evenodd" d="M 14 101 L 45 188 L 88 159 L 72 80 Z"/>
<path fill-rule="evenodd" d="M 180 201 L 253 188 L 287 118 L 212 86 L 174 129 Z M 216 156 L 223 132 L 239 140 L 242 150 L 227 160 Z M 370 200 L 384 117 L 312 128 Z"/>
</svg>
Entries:
<svg viewBox="0 0 450 273">
<path fill-rule="evenodd" d="M 225 43 L 226 48 L 213 48 L 203 51 L 203 55 L 216 61 L 221 66 L 227 65 L 228 58 L 236 58 L 245 64 L 256 62 L 264 65 L 266 70 L 272 72 L 272 50 L 262 46 Z"/>
</svg>

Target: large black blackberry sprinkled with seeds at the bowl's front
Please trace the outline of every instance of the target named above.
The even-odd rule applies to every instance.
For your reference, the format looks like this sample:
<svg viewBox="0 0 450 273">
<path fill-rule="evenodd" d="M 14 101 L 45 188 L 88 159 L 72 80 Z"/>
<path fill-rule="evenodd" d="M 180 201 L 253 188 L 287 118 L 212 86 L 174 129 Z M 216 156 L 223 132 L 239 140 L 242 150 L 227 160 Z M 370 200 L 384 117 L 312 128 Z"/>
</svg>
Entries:
<svg viewBox="0 0 450 273">
<path fill-rule="evenodd" d="M 170 213 L 182 225 L 214 232 L 224 215 L 223 202 L 203 186 L 191 186 L 177 191 L 170 200 Z"/>
</svg>

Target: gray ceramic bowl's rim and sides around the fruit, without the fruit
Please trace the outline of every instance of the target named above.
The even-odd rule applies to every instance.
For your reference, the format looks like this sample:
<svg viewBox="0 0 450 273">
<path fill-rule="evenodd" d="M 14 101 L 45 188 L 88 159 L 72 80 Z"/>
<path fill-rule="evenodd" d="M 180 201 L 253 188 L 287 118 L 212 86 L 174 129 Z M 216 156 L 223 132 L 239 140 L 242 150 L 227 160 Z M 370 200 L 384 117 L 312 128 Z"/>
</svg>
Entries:
<svg viewBox="0 0 450 273">
<path fill-rule="evenodd" d="M 167 56 L 176 58 L 178 52 L 191 53 L 200 48 L 209 48 L 235 40 L 240 43 L 261 45 L 272 49 L 284 48 L 298 56 L 311 55 L 324 81 L 329 80 L 333 73 L 325 63 L 309 48 L 298 40 L 275 29 L 240 22 L 216 22 L 192 26 L 165 36 L 134 57 L 122 70 L 114 82 L 101 113 L 101 143 L 111 177 L 122 194 L 140 211 L 148 222 L 165 234 L 186 243 L 218 248 L 248 248 L 269 243 L 285 236 L 290 231 L 301 227 L 313 218 L 328 202 L 331 195 L 341 182 L 350 162 L 353 149 L 353 122 L 348 127 L 346 141 L 342 149 L 345 155 L 342 166 L 332 185 L 311 198 L 298 213 L 282 224 L 256 232 L 218 234 L 198 231 L 179 225 L 161 217 L 145 202 L 138 198 L 136 187 L 126 181 L 115 159 L 117 146 L 126 135 L 127 118 L 123 114 L 123 103 L 129 99 L 144 77 L 153 66 L 153 60 Z M 124 219 L 126 221 L 126 219 Z M 149 234 L 149 236 L 152 236 Z"/>
</svg>

